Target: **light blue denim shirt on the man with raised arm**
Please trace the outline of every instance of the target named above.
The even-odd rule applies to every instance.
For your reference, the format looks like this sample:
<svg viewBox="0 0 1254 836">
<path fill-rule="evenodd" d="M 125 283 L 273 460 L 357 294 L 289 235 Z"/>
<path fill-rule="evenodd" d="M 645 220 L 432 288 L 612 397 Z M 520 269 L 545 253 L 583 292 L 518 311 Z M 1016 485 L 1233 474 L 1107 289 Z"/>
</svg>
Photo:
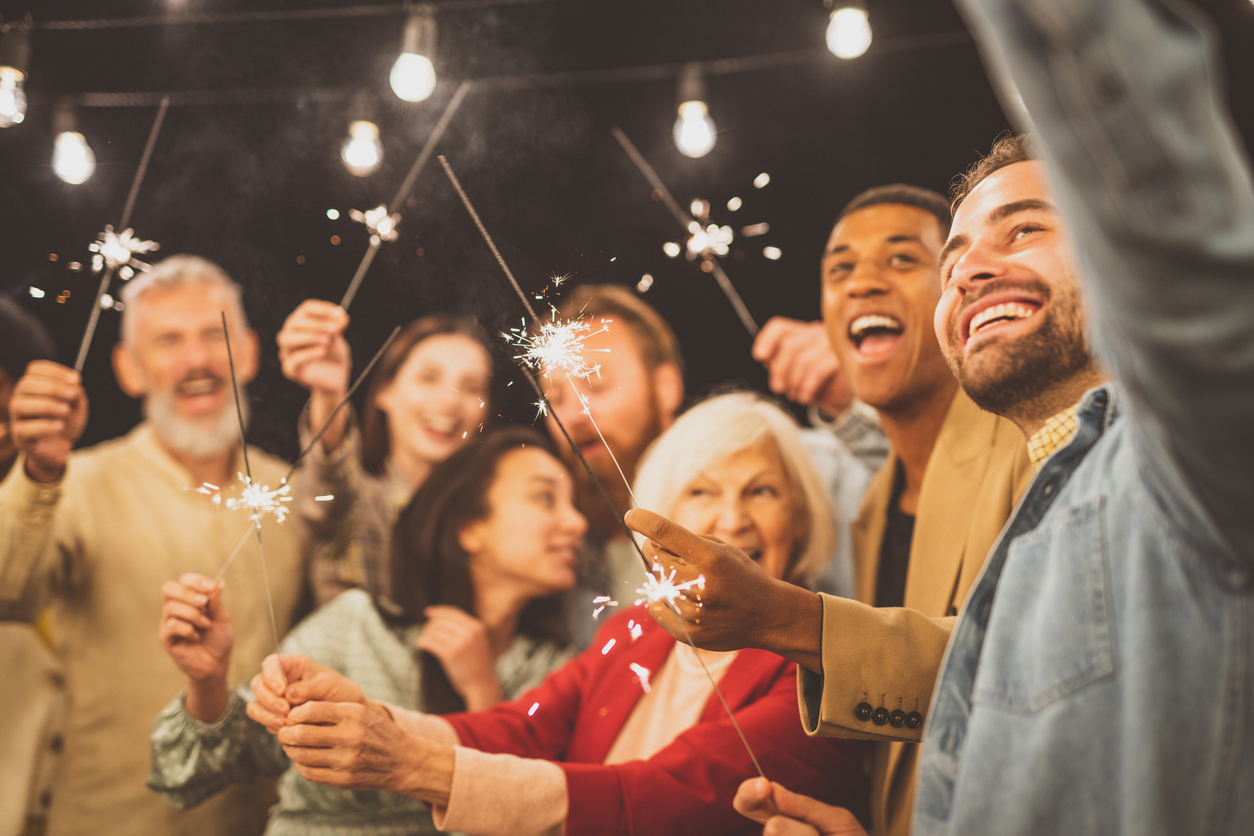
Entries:
<svg viewBox="0 0 1254 836">
<path fill-rule="evenodd" d="M 917 836 L 1254 833 L 1254 187 L 1161 0 L 961 0 L 1022 95 L 1117 381 L 954 628 Z"/>
</svg>

